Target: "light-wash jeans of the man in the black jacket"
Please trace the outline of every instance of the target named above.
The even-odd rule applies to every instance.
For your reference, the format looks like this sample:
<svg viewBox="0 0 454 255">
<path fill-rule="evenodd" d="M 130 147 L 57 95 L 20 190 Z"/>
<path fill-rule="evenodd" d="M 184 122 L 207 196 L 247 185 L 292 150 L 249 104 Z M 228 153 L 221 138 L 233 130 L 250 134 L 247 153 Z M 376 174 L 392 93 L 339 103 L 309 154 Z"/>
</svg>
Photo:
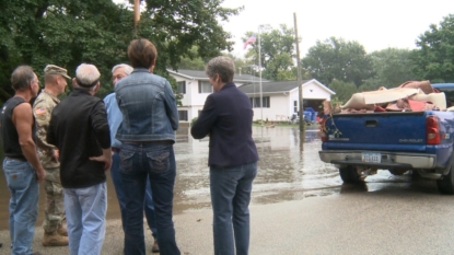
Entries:
<svg viewBox="0 0 454 255">
<path fill-rule="evenodd" d="M 70 255 L 98 255 L 106 233 L 106 183 L 63 188 Z"/>
</svg>

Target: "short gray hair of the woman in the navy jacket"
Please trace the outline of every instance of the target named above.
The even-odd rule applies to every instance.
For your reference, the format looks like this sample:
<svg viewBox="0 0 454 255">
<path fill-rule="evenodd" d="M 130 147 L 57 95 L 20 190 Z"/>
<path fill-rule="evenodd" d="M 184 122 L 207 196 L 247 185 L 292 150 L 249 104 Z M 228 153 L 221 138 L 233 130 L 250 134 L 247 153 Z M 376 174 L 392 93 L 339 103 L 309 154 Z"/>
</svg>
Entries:
<svg viewBox="0 0 454 255">
<path fill-rule="evenodd" d="M 209 78 L 219 74 L 222 82 L 232 82 L 235 74 L 235 65 L 229 57 L 219 56 L 211 59 L 206 67 L 206 73 Z"/>
</svg>

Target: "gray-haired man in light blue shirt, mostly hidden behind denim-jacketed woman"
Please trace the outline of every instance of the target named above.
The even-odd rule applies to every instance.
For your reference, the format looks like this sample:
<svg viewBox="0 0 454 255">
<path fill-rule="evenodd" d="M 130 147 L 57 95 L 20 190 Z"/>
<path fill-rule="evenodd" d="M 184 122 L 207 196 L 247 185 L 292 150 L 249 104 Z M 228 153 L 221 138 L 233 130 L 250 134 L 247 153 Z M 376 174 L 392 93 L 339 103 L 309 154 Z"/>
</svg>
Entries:
<svg viewBox="0 0 454 255">
<path fill-rule="evenodd" d="M 114 84 L 114 86 L 117 83 L 117 81 L 129 76 L 131 72 L 132 72 L 132 67 L 126 63 L 120 63 L 120 65 L 115 66 L 112 69 L 112 83 Z M 120 109 L 118 108 L 117 100 L 115 98 L 115 93 L 108 94 L 104 98 L 104 103 L 107 109 L 107 119 L 108 119 L 108 126 L 110 128 L 110 138 L 112 138 L 113 158 L 112 158 L 110 175 L 112 175 L 112 179 L 114 181 L 115 192 L 117 193 L 118 204 L 120 206 L 121 220 L 124 221 L 126 197 L 125 197 L 125 190 L 123 189 L 120 172 L 119 172 L 119 164 L 120 164 L 120 157 L 119 157 L 120 149 L 119 148 L 121 146 L 121 141 L 115 139 L 117 129 L 123 121 L 123 115 L 121 115 Z M 154 237 L 152 252 L 158 253 L 160 248 L 159 248 L 158 241 L 156 241 L 156 222 L 154 219 L 154 206 L 153 206 L 153 199 L 151 196 L 150 181 L 147 181 L 144 212 L 145 212 L 148 225 L 150 227 L 150 230 Z"/>
</svg>

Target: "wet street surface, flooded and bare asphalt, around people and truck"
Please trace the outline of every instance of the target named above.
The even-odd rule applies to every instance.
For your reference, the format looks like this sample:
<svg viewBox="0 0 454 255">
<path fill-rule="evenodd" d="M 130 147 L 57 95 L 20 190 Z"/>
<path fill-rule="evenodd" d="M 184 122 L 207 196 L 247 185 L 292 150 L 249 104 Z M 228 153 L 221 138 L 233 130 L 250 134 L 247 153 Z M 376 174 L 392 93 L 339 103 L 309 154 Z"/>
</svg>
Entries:
<svg viewBox="0 0 454 255">
<path fill-rule="evenodd" d="M 187 130 L 186 130 L 187 131 Z M 387 171 L 363 185 L 342 185 L 337 169 L 318 160 L 315 130 L 254 128 L 259 173 L 251 205 L 251 254 L 454 254 L 453 196 L 440 195 L 432 181 Z M 175 144 L 175 229 L 182 254 L 212 254 L 208 183 L 208 140 L 178 132 Z M 8 198 L 0 178 L 0 254 L 9 254 Z M 103 254 L 121 254 L 123 232 L 112 185 Z M 37 225 L 40 225 L 40 219 Z M 5 225 L 7 223 L 7 225 Z M 151 236 L 148 231 L 148 252 Z M 36 228 L 35 251 L 44 248 Z"/>
</svg>

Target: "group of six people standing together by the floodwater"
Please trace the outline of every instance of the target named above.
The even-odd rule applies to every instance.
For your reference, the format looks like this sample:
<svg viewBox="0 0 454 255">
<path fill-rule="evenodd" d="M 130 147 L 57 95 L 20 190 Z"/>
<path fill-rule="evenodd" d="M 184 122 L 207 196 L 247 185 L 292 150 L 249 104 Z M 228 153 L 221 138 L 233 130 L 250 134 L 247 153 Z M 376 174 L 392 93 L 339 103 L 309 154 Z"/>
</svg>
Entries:
<svg viewBox="0 0 454 255">
<path fill-rule="evenodd" d="M 13 71 L 15 94 L 0 115 L 3 172 L 11 193 L 11 254 L 39 254 L 32 251 L 38 183 L 46 190 L 42 244 L 68 245 L 70 255 L 101 254 L 107 171 L 120 207 L 124 253 L 145 254 L 145 215 L 154 237 L 152 251 L 181 254 L 172 220 L 178 111 L 170 82 L 153 73 L 156 56 L 150 40 L 133 39 L 128 47 L 131 66 L 112 69 L 115 92 L 104 100 L 94 96 L 101 85 L 94 65 L 80 65 L 73 79 L 63 68 L 46 66 L 39 95 L 39 80 L 30 66 Z M 206 73 L 214 93 L 207 97 L 190 130 L 196 139 L 210 137 L 217 255 L 248 254 L 248 204 L 257 174 L 253 109 L 233 83 L 234 69 L 228 57 L 208 62 Z M 73 89 L 60 102 L 58 95 L 68 80 Z"/>
</svg>

